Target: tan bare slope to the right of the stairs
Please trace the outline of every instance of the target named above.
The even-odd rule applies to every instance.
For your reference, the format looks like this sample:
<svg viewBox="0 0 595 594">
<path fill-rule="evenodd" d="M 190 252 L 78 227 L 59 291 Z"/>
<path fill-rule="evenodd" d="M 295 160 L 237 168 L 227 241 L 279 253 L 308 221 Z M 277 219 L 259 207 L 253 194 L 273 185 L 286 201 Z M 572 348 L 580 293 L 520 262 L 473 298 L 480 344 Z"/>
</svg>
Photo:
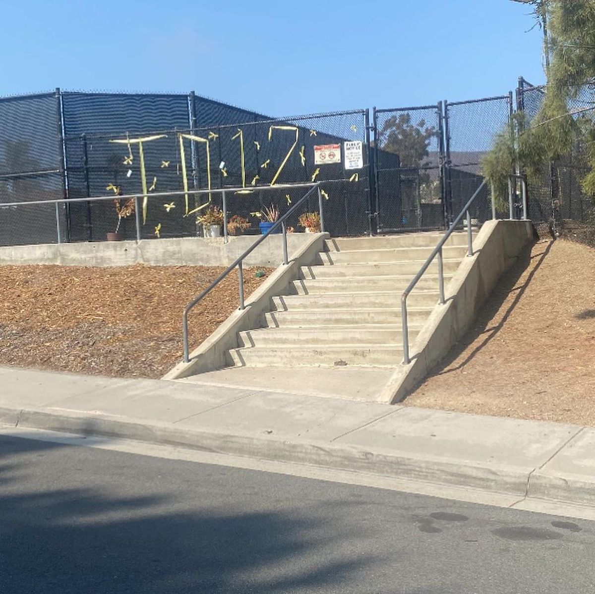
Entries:
<svg viewBox="0 0 595 594">
<path fill-rule="evenodd" d="M 404 404 L 595 425 L 595 250 L 536 243 Z"/>
</svg>

